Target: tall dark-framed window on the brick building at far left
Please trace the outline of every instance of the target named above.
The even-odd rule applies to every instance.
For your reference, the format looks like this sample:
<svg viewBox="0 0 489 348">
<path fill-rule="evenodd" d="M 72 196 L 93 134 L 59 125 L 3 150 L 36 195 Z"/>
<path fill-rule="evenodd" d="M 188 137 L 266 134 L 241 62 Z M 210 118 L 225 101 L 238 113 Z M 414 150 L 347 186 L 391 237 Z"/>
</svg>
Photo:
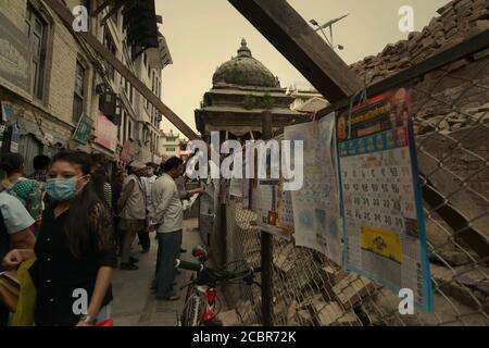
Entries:
<svg viewBox="0 0 489 348">
<path fill-rule="evenodd" d="M 30 90 L 36 99 L 45 97 L 46 41 L 48 25 L 46 21 L 27 4 L 26 34 L 30 41 L 33 78 Z"/>
</svg>

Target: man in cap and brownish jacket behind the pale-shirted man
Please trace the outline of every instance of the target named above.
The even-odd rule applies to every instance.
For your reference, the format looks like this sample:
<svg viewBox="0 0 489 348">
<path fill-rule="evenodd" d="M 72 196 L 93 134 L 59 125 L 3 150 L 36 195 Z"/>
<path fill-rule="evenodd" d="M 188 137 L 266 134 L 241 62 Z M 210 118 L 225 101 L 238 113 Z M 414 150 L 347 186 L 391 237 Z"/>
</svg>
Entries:
<svg viewBox="0 0 489 348">
<path fill-rule="evenodd" d="M 136 234 L 146 227 L 146 195 L 141 183 L 141 176 L 146 175 L 146 165 L 133 162 L 130 167 L 133 174 L 124 181 L 118 200 L 118 216 L 125 228 L 120 269 L 125 271 L 139 269 L 135 264 L 137 260 L 130 258 L 130 246 Z"/>
</svg>

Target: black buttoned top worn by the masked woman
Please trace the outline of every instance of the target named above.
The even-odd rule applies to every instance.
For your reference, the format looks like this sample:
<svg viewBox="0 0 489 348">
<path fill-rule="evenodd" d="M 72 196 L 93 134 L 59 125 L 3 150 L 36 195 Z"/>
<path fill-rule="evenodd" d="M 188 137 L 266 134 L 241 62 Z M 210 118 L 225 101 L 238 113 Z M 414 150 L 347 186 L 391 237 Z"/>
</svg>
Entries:
<svg viewBox="0 0 489 348">
<path fill-rule="evenodd" d="M 63 232 L 68 211 L 55 219 L 53 210 L 51 207 L 45 211 L 34 249 L 37 260 L 29 271 L 37 289 L 35 322 L 38 326 L 73 326 L 80 318 L 73 311 L 73 304 L 80 299 L 79 295 L 74 297 L 74 291 L 87 291 L 88 308 L 99 269 L 115 268 L 117 264 L 112 219 L 104 204 L 95 204 L 87 216 L 91 226 L 90 244 L 77 259 L 70 251 Z M 102 306 L 111 301 L 112 287 Z"/>
</svg>

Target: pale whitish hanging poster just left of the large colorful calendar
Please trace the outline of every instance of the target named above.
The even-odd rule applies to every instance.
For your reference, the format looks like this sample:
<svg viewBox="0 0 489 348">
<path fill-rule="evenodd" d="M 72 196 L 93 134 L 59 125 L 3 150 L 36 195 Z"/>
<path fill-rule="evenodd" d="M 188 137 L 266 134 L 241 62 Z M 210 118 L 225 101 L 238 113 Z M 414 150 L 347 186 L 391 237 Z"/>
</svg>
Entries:
<svg viewBox="0 0 489 348">
<path fill-rule="evenodd" d="M 296 245 L 314 249 L 341 264 L 341 227 L 335 116 L 285 128 L 285 140 L 302 140 L 303 186 L 291 191 Z M 294 157 L 292 157 L 292 165 Z"/>
</svg>

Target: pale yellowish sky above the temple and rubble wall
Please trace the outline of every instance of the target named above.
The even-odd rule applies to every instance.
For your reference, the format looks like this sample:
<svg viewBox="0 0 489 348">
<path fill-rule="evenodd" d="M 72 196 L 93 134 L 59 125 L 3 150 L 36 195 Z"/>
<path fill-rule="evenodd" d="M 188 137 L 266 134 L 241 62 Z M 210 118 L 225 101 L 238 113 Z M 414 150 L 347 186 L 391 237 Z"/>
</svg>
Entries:
<svg viewBox="0 0 489 348">
<path fill-rule="evenodd" d="M 305 20 L 319 24 L 349 13 L 334 26 L 337 51 L 347 63 L 376 55 L 386 45 L 408 37 L 399 30 L 399 9 L 414 10 L 414 29 L 421 30 L 448 0 L 289 0 Z M 237 55 L 246 38 L 260 60 L 283 87 L 306 86 L 306 79 L 227 0 L 155 0 L 163 16 L 160 32 L 166 38 L 173 64 L 163 71 L 162 99 L 180 119 L 196 129 L 193 112 L 203 94 L 212 88 L 215 70 Z M 163 129 L 176 129 L 167 120 Z"/>
</svg>

